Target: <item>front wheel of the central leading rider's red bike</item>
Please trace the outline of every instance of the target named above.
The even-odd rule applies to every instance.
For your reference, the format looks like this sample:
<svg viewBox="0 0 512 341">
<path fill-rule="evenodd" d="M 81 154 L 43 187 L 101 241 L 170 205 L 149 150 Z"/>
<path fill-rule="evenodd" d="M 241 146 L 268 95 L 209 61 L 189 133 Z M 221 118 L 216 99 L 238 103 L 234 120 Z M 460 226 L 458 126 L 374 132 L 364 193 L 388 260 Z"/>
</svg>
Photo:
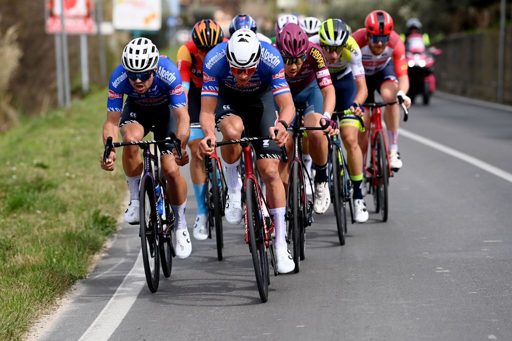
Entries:
<svg viewBox="0 0 512 341">
<path fill-rule="evenodd" d="M 254 265 L 254 274 L 256 275 L 256 284 L 260 293 L 262 302 L 268 301 L 268 258 L 267 248 L 263 235 L 263 214 L 259 206 L 256 186 L 253 179 L 248 179 L 246 183 L 247 200 L 247 232 L 249 236 L 249 251 Z"/>
</svg>

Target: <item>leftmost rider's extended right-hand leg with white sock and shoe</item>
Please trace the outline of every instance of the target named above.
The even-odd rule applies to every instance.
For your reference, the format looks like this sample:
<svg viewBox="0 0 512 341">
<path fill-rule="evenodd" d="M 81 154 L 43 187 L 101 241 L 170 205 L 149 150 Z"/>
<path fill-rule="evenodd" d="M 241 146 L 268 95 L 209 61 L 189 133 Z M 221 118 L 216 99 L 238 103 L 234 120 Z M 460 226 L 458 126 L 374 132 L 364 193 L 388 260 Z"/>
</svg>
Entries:
<svg viewBox="0 0 512 341">
<path fill-rule="evenodd" d="M 169 132 L 176 131 L 176 119 L 173 109 L 165 106 L 155 116 L 155 140 L 164 140 Z M 160 164 L 163 175 L 167 181 L 166 190 L 169 194 L 169 203 L 174 211 L 174 248 L 176 257 L 187 258 L 192 252 L 192 244 L 188 235 L 187 222 L 185 220 L 185 207 L 187 203 L 187 183 L 176 164 L 175 156 L 172 153 L 174 145 L 170 143 L 160 144 Z"/>
</svg>

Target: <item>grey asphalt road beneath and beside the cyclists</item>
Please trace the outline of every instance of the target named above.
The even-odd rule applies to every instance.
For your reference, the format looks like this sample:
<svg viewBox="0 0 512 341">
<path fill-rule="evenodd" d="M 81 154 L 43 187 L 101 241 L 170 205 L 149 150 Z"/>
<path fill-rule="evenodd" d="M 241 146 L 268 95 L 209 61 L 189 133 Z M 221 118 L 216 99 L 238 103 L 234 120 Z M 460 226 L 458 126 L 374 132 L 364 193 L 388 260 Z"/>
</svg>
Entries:
<svg viewBox="0 0 512 341">
<path fill-rule="evenodd" d="M 404 166 L 390 181 L 389 221 L 368 197 L 370 220 L 349 225 L 340 246 L 332 209 L 315 215 L 301 272 L 272 277 L 267 303 L 242 225 L 224 225 L 222 262 L 215 240 L 193 239 L 191 256 L 174 259 L 154 294 L 137 229 L 123 225 L 39 338 L 512 339 L 512 111 L 434 97 L 401 127 Z"/>
</svg>

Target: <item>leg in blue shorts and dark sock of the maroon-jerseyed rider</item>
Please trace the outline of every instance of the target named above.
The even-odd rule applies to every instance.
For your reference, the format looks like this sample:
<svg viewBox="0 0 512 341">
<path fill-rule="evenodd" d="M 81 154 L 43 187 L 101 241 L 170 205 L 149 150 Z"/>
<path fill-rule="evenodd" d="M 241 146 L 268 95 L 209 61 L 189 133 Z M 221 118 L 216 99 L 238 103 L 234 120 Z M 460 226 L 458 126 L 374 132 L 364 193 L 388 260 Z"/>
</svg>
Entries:
<svg viewBox="0 0 512 341">
<path fill-rule="evenodd" d="M 322 111 L 324 108 L 324 97 L 316 82 L 312 82 L 301 93 L 307 96 L 306 109 L 304 110 L 304 126 L 319 127 Z M 315 169 L 315 194 L 313 210 L 317 214 L 323 214 L 331 204 L 329 192 L 328 169 L 327 169 L 327 139 L 321 130 L 308 131 L 308 142 L 311 159 Z"/>
</svg>

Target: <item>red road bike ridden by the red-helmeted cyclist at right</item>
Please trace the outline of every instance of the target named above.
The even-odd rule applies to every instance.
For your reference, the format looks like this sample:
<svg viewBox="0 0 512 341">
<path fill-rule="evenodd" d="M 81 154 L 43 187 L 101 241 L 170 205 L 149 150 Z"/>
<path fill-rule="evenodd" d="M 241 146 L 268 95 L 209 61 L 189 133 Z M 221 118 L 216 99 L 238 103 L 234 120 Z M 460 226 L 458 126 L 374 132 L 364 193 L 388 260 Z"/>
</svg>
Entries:
<svg viewBox="0 0 512 341">
<path fill-rule="evenodd" d="M 394 102 L 374 102 L 365 103 L 363 106 L 370 112 L 370 166 L 365 169 L 366 183 L 368 184 L 368 193 L 373 194 L 373 203 L 375 205 L 375 213 L 379 213 L 382 221 L 388 221 L 389 215 L 389 178 L 393 176 L 393 171 L 389 165 L 388 144 L 386 142 L 386 134 L 382 129 L 381 123 L 381 107 L 399 103 L 403 112 L 403 121 L 409 119 L 409 111 L 403 103 L 403 98 L 398 97 L 398 101 Z M 365 153 L 363 165 L 367 165 L 368 153 Z"/>
</svg>

